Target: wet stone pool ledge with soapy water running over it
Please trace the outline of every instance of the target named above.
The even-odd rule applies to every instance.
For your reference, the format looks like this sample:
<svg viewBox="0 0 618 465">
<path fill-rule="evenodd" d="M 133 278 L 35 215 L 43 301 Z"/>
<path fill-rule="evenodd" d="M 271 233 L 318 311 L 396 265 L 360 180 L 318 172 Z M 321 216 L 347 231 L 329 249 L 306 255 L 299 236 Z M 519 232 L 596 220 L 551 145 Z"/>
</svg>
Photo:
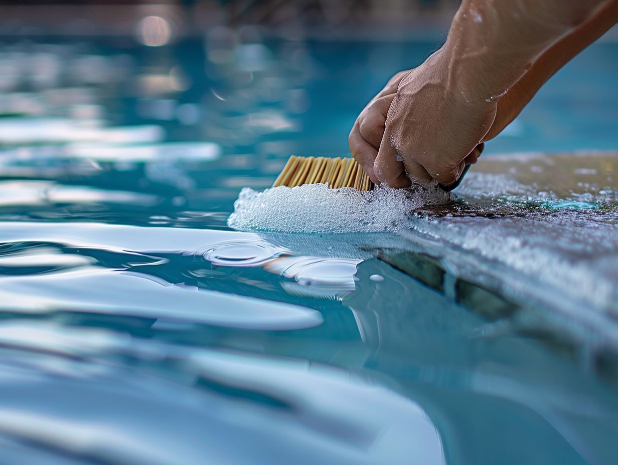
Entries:
<svg viewBox="0 0 618 465">
<path fill-rule="evenodd" d="M 431 223 L 420 215 L 402 235 L 453 274 L 618 347 L 616 153 L 493 157 L 475 168 L 459 204 Z"/>
</svg>

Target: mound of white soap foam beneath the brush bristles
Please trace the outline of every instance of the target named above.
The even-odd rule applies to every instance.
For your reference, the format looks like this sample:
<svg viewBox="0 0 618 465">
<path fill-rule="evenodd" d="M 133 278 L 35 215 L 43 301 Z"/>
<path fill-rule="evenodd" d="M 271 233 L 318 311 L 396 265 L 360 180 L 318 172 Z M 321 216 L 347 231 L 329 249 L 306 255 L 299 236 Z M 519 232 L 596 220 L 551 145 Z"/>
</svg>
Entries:
<svg viewBox="0 0 618 465">
<path fill-rule="evenodd" d="M 227 224 L 242 231 L 394 232 L 407 224 L 415 209 L 450 200 L 434 182 L 408 189 L 378 186 L 373 191 L 329 189 L 326 184 L 263 192 L 243 188 Z"/>
</svg>

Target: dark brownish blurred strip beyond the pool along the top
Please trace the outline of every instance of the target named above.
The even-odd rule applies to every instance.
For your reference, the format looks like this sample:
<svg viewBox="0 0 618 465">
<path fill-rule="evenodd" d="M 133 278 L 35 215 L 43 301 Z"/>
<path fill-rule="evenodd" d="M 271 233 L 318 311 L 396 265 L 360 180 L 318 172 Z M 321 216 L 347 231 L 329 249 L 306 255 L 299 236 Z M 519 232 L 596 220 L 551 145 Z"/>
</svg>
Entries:
<svg viewBox="0 0 618 465">
<path fill-rule="evenodd" d="M 293 38 L 376 39 L 409 35 L 410 27 L 448 27 L 457 0 L 168 0 L 2 2 L 2 33 L 124 36 L 137 22 L 158 15 L 168 37 L 201 36 L 205 28 L 259 25 Z M 393 27 L 400 28 L 394 31 Z"/>
</svg>

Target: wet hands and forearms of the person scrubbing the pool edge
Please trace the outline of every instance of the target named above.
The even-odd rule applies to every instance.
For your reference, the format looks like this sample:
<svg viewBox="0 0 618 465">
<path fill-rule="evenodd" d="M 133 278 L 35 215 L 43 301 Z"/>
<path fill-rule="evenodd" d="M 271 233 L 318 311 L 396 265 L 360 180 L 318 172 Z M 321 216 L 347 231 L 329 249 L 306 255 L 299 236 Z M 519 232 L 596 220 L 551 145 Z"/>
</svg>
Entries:
<svg viewBox="0 0 618 465">
<path fill-rule="evenodd" d="M 363 109 L 352 155 L 391 187 L 455 182 L 480 143 L 617 21 L 618 0 L 464 0 L 444 46 L 394 75 Z"/>
</svg>

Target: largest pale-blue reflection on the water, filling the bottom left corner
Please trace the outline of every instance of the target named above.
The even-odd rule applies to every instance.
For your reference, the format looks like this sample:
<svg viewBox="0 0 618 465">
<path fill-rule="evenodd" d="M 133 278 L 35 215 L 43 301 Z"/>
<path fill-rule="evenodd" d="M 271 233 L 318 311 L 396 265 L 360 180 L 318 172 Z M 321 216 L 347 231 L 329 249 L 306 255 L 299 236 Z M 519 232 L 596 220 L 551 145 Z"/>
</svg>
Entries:
<svg viewBox="0 0 618 465">
<path fill-rule="evenodd" d="M 54 324 L 2 325 L 0 341 L 0 431 L 11 457 L 25 455 L 13 442 L 27 442 L 37 446 L 30 458 L 105 462 L 444 463 L 418 404 L 332 367 Z M 114 363 L 123 358 L 135 369 Z M 149 375 L 156 366 L 167 370 Z"/>
</svg>

